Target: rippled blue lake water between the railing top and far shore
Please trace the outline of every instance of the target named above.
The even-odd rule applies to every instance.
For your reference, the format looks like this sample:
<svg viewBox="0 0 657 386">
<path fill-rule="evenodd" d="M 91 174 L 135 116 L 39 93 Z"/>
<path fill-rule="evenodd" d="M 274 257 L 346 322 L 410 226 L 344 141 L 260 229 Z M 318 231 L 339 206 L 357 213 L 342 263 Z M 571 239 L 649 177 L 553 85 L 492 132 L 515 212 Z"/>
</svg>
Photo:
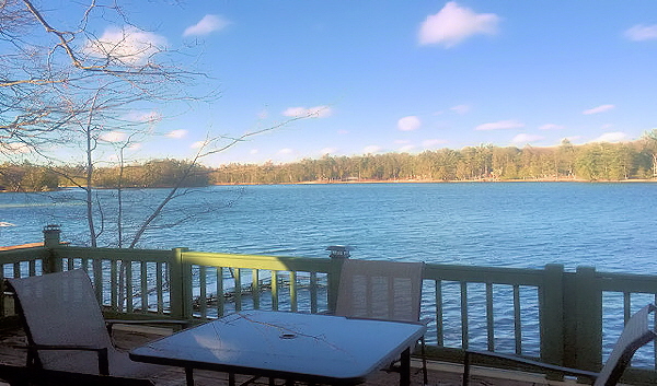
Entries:
<svg viewBox="0 0 657 386">
<path fill-rule="evenodd" d="M 126 191 L 134 232 L 165 189 Z M 102 246 L 115 246 L 114 192 L 105 200 Z M 77 191 L 1 194 L 0 244 L 42 241 L 45 224 L 84 244 Z M 185 217 L 189 219 L 185 220 Z M 350 245 L 357 258 L 657 274 L 657 185 L 463 183 L 275 185 L 196 189 L 168 207 L 141 247 L 326 257 Z M 171 223 L 184 220 L 175 227 Z"/>
</svg>

